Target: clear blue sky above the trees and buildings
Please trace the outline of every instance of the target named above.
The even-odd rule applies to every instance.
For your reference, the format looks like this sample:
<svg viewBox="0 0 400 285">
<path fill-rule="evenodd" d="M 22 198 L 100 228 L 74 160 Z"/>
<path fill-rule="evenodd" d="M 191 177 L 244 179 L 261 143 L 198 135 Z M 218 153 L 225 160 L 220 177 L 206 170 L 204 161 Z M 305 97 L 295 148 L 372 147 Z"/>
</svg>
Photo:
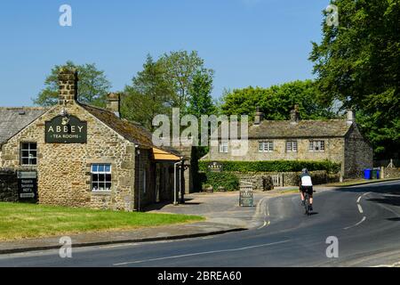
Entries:
<svg viewBox="0 0 400 285">
<path fill-rule="evenodd" d="M 61 4 L 73 26 L 60 27 Z M 148 53 L 196 50 L 224 88 L 313 77 L 329 0 L 36 0 L 0 4 L 0 106 L 29 106 L 56 64 L 96 63 L 118 91 Z"/>
</svg>

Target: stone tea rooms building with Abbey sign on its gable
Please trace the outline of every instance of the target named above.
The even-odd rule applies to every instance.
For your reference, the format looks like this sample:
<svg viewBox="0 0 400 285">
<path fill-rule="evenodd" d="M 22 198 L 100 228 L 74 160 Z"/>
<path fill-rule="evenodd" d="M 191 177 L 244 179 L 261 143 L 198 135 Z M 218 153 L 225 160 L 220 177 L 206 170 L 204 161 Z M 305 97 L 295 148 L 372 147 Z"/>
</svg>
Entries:
<svg viewBox="0 0 400 285">
<path fill-rule="evenodd" d="M 107 109 L 78 102 L 77 80 L 61 69 L 52 108 L 0 109 L 0 172 L 36 178 L 26 182 L 37 183 L 41 204 L 132 211 L 171 200 L 180 154 L 157 149 L 147 129 L 120 118 L 118 94 L 108 94 Z"/>
</svg>

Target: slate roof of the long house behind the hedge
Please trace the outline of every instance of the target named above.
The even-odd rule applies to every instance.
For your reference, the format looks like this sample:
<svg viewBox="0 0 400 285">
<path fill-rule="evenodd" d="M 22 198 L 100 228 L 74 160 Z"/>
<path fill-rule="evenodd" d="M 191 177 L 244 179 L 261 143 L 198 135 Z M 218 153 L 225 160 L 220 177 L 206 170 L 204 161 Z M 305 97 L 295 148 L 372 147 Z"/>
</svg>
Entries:
<svg viewBox="0 0 400 285">
<path fill-rule="evenodd" d="M 343 137 L 350 126 L 346 119 L 300 120 L 297 123 L 262 120 L 260 126 L 249 127 L 249 138 Z"/>
</svg>

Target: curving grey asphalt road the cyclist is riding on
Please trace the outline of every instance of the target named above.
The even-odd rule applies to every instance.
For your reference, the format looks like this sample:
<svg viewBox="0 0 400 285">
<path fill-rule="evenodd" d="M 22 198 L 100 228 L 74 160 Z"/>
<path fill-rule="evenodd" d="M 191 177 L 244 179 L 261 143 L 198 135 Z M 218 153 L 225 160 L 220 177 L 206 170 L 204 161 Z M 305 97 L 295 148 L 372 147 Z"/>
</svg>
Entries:
<svg viewBox="0 0 400 285">
<path fill-rule="evenodd" d="M 400 182 L 317 192 L 314 215 L 299 195 L 264 201 L 260 228 L 203 239 L 0 256 L 0 266 L 377 266 L 400 261 Z M 327 257 L 328 237 L 339 257 Z M 330 251 L 331 252 L 331 251 Z"/>
</svg>

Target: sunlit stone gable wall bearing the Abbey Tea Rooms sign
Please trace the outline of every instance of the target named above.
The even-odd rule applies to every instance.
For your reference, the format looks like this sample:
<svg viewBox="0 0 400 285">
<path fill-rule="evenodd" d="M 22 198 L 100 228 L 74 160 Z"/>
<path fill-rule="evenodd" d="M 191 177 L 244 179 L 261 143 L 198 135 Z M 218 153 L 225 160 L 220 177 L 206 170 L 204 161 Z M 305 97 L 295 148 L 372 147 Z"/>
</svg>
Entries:
<svg viewBox="0 0 400 285">
<path fill-rule="evenodd" d="M 61 110 L 62 106 L 52 108 L 6 142 L 0 153 L 0 167 L 20 170 L 20 143 L 37 142 L 37 166 L 24 168 L 37 170 L 39 203 L 132 211 L 134 143 L 116 134 L 76 103 L 68 104 L 67 111 L 87 121 L 87 144 L 44 143 L 45 121 L 58 116 Z M 92 191 L 93 163 L 112 165 L 111 191 Z"/>
</svg>

